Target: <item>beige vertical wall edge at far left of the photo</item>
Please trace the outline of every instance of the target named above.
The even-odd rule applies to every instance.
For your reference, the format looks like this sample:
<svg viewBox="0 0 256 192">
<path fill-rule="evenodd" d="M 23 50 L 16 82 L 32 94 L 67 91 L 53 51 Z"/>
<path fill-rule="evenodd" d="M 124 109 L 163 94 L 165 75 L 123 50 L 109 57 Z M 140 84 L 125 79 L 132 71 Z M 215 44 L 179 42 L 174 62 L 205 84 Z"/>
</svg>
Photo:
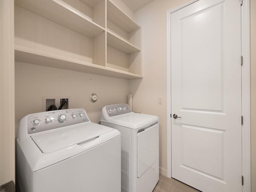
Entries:
<svg viewBox="0 0 256 192">
<path fill-rule="evenodd" d="M 0 186 L 15 182 L 13 0 L 0 1 Z"/>
</svg>

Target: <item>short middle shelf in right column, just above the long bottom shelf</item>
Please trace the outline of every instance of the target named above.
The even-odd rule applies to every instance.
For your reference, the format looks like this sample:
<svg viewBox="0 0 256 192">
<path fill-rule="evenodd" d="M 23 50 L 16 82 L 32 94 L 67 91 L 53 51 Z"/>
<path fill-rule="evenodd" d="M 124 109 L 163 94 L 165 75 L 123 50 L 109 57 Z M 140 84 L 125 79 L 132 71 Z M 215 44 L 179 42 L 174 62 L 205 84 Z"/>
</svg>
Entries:
<svg viewBox="0 0 256 192">
<path fill-rule="evenodd" d="M 107 31 L 107 45 L 126 54 L 140 51 L 136 46 L 109 31 Z"/>
</svg>

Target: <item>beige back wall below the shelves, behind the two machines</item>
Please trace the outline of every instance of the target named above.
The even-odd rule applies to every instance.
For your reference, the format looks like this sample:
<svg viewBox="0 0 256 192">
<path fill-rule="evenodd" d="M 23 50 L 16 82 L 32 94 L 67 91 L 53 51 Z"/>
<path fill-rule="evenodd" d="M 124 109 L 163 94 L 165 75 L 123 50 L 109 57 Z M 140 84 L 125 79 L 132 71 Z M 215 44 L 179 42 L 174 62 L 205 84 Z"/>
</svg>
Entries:
<svg viewBox="0 0 256 192">
<path fill-rule="evenodd" d="M 26 63 L 15 63 L 16 136 L 20 119 L 42 112 L 43 96 L 70 96 L 69 108 L 84 108 L 98 123 L 103 106 L 128 102 L 128 80 Z M 98 100 L 90 101 L 96 93 Z"/>
</svg>

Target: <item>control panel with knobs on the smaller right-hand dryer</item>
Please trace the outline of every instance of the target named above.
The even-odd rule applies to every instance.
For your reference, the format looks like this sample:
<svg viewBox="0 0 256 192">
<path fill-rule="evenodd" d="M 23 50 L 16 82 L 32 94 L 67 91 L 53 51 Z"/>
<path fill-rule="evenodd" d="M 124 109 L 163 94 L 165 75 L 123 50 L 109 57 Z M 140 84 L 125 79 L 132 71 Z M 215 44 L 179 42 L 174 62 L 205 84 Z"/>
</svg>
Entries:
<svg viewBox="0 0 256 192">
<path fill-rule="evenodd" d="M 106 112 L 109 117 L 122 115 L 132 112 L 128 104 L 116 104 L 106 106 Z"/>
</svg>

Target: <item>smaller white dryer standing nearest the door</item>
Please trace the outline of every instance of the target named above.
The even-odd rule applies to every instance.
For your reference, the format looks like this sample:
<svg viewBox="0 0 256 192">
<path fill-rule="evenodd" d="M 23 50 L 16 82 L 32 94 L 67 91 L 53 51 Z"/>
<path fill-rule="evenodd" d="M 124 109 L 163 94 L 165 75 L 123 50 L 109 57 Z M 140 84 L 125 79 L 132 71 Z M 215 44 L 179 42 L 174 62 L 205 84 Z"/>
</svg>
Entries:
<svg viewBox="0 0 256 192">
<path fill-rule="evenodd" d="M 152 192 L 159 180 L 158 117 L 116 104 L 102 108 L 100 124 L 121 133 L 122 192 Z"/>
</svg>

